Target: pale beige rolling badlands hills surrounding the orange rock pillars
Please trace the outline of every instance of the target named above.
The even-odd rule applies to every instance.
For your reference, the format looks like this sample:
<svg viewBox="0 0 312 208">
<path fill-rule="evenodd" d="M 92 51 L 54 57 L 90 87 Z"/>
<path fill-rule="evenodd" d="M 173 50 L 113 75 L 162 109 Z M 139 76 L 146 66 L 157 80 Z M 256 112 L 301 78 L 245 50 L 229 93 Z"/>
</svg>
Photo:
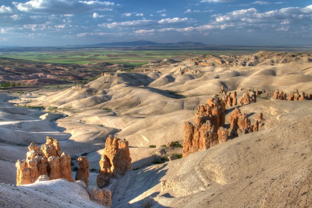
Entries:
<svg viewBox="0 0 312 208">
<path fill-rule="evenodd" d="M 76 183 L 52 180 L 15 187 L 15 163 L 26 158 L 31 142 L 41 145 L 52 136 L 71 155 L 73 178 L 74 160 L 88 157 L 88 185 L 96 186 L 109 135 L 129 142 L 134 169 L 105 187 L 112 192 L 111 207 L 312 206 L 312 100 L 273 98 L 276 89 L 287 97 L 296 89 L 312 93 L 311 52 L 200 55 L 102 75 L 69 88 L 0 91 L 1 207 L 99 206 Z M 194 122 L 197 107 L 219 94 L 222 85 L 227 92 L 236 91 L 237 100 L 247 90 L 263 91 L 256 102 L 227 107 L 228 131 L 235 107 L 252 124 L 262 112 L 264 126 L 166 161 L 183 148 L 163 146 L 183 144 L 184 123 Z M 19 107 L 24 105 L 39 108 Z"/>
</svg>

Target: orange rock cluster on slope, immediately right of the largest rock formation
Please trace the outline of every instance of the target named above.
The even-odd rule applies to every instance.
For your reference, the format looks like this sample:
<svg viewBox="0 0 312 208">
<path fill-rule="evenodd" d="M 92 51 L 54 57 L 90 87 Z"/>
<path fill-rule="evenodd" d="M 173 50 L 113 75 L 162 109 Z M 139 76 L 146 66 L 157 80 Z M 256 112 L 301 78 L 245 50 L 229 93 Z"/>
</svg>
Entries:
<svg viewBox="0 0 312 208">
<path fill-rule="evenodd" d="M 248 134 L 250 132 L 258 131 L 259 127 L 263 126 L 263 114 L 258 115 L 258 120 L 255 121 L 254 125 L 251 125 L 250 119 L 247 117 L 246 113 L 241 113 L 238 107 L 234 109 L 230 116 L 230 137 L 231 139 Z"/>
</svg>

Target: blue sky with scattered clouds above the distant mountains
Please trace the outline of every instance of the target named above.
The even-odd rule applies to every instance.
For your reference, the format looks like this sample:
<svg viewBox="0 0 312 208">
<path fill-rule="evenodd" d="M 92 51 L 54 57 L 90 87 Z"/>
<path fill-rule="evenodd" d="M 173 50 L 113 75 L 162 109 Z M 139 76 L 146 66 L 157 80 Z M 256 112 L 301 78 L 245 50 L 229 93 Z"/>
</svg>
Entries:
<svg viewBox="0 0 312 208">
<path fill-rule="evenodd" d="M 0 0 L 0 45 L 312 45 L 312 1 Z"/>
</svg>

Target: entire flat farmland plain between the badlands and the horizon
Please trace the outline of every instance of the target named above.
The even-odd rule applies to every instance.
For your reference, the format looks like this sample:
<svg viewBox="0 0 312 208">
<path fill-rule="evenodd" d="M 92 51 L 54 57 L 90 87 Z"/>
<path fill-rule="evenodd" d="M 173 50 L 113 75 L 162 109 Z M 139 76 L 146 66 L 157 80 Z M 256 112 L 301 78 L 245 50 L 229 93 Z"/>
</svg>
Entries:
<svg viewBox="0 0 312 208">
<path fill-rule="evenodd" d="M 211 46 L 205 48 L 167 48 L 131 49 L 131 48 L 66 48 L 66 47 L 29 47 L 29 48 L 0 48 L 0 57 L 30 60 L 38 63 L 56 64 L 93 64 L 109 62 L 112 64 L 141 65 L 150 61 L 173 59 L 182 61 L 200 54 L 245 55 L 255 54 L 260 50 L 282 52 L 307 52 L 310 46 L 284 47 L 251 47 L 251 46 Z"/>
</svg>

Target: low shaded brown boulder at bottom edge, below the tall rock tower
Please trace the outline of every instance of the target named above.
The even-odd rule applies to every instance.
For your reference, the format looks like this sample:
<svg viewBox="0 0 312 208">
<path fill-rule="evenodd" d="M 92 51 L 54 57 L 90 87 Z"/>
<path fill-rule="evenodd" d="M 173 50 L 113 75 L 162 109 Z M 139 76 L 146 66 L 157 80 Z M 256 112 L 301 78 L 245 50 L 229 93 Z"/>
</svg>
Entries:
<svg viewBox="0 0 312 208">
<path fill-rule="evenodd" d="M 110 207 L 112 205 L 112 192 L 110 190 L 105 188 L 99 189 L 94 186 L 88 186 L 87 192 L 92 201 L 95 201 L 96 203 L 107 207 Z"/>
</svg>

